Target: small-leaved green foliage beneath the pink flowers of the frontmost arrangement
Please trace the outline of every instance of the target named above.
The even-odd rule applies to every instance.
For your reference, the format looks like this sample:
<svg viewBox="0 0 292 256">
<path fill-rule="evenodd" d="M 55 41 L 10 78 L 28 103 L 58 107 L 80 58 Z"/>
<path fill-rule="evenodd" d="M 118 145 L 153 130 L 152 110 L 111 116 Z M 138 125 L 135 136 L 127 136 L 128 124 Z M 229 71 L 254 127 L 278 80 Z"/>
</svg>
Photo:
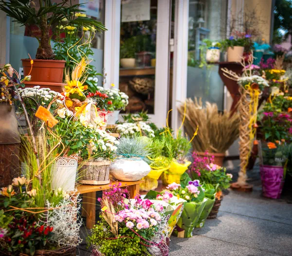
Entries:
<svg viewBox="0 0 292 256">
<path fill-rule="evenodd" d="M 120 227 L 118 231 L 119 237 L 114 238 L 109 224 L 102 217 L 101 219 L 93 226 L 92 234 L 87 238 L 89 245 L 95 246 L 104 255 L 150 256 L 146 246 L 139 243 L 141 238 L 138 236 L 132 238 L 133 232 L 130 229 Z"/>
</svg>

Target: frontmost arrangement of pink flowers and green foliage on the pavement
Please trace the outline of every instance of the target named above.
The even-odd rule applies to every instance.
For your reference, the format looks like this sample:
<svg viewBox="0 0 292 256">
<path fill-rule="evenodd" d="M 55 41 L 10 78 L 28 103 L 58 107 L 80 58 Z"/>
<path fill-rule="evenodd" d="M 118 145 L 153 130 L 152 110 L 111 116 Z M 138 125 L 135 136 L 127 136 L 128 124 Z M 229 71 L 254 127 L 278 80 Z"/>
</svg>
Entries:
<svg viewBox="0 0 292 256">
<path fill-rule="evenodd" d="M 167 217 L 149 200 L 126 199 L 128 190 L 112 184 L 99 198 L 100 221 L 87 238 L 93 255 L 168 254 Z"/>
</svg>

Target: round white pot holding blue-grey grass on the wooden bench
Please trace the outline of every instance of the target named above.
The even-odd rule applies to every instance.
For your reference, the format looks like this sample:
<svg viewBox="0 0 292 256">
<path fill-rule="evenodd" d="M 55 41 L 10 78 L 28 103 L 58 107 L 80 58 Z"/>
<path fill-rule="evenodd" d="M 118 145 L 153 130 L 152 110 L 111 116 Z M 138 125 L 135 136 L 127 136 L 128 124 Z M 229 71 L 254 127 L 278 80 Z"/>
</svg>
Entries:
<svg viewBox="0 0 292 256">
<path fill-rule="evenodd" d="M 139 181 L 149 172 L 150 166 L 141 159 L 116 159 L 110 165 L 110 174 L 119 181 Z"/>
</svg>

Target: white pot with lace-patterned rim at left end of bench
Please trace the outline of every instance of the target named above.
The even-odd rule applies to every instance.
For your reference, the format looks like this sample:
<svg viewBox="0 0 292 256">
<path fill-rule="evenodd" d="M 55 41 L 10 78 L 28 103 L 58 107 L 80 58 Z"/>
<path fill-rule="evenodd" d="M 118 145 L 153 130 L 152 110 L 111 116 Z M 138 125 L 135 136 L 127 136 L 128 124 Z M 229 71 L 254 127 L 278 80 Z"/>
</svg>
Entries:
<svg viewBox="0 0 292 256">
<path fill-rule="evenodd" d="M 51 168 L 52 188 L 62 188 L 64 191 L 75 187 L 78 156 L 58 157 Z"/>
</svg>

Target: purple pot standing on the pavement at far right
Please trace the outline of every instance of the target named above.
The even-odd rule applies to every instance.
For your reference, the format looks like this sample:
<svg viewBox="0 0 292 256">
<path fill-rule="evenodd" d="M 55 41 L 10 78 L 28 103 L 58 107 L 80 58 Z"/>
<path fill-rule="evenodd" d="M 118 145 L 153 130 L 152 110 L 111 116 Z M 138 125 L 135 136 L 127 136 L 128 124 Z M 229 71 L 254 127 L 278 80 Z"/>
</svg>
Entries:
<svg viewBox="0 0 292 256">
<path fill-rule="evenodd" d="M 282 166 L 260 165 L 263 196 L 279 199 L 284 186 L 284 168 Z"/>
</svg>

